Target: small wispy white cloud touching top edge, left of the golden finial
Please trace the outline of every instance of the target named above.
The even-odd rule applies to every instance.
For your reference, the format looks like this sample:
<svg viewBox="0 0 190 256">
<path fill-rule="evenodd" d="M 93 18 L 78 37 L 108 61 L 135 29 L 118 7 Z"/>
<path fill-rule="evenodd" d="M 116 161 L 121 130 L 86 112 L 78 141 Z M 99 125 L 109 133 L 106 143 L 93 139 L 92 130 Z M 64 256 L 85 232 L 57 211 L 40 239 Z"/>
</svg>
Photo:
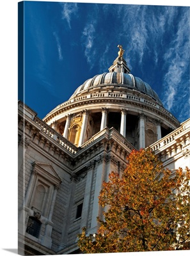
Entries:
<svg viewBox="0 0 190 256">
<path fill-rule="evenodd" d="M 62 19 L 66 19 L 68 27 L 71 29 L 70 21 L 73 15 L 77 14 L 78 6 L 77 3 L 60 3 L 62 10 Z"/>
</svg>

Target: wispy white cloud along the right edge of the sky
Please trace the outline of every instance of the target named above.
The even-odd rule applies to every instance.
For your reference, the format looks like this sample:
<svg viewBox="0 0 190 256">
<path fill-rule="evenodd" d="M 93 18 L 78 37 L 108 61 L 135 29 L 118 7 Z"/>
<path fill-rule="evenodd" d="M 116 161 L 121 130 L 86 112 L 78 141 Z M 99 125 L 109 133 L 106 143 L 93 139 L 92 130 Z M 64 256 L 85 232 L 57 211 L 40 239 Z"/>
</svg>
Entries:
<svg viewBox="0 0 190 256">
<path fill-rule="evenodd" d="M 168 63 L 169 66 L 164 76 L 163 103 L 170 111 L 172 108 L 178 108 L 178 100 L 175 98 L 179 95 L 186 95 L 186 102 L 189 98 L 189 79 L 182 82 L 184 71 L 189 68 L 189 12 L 184 12 L 183 19 L 178 23 L 177 33 L 164 54 L 164 61 L 166 67 Z"/>
</svg>

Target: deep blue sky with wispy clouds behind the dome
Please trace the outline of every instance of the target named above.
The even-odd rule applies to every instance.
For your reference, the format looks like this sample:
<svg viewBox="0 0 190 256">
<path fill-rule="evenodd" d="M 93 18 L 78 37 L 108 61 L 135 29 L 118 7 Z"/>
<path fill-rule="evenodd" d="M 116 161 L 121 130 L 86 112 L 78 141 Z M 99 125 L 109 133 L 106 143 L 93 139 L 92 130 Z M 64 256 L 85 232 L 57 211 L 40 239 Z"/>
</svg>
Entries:
<svg viewBox="0 0 190 256">
<path fill-rule="evenodd" d="M 108 72 L 122 44 L 131 74 L 183 122 L 190 106 L 189 31 L 188 6 L 26 1 L 24 102 L 43 118 L 86 79 Z"/>
</svg>

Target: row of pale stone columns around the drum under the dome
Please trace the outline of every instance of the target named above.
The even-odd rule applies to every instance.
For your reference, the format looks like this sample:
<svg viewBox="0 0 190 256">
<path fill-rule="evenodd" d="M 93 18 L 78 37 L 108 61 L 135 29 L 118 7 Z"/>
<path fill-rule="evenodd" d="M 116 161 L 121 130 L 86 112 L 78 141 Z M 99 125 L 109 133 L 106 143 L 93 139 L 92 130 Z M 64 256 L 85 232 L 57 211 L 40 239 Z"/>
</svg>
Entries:
<svg viewBox="0 0 190 256">
<path fill-rule="evenodd" d="M 81 126 L 81 134 L 79 137 L 78 147 L 80 147 L 85 141 L 86 128 L 88 125 L 88 116 L 89 110 L 83 110 L 83 124 Z M 121 122 L 120 122 L 120 134 L 124 137 L 126 136 L 126 125 L 127 125 L 127 109 L 121 109 Z M 100 131 L 102 131 L 107 126 L 107 115 L 108 109 L 102 108 L 102 118 L 100 124 Z M 70 127 L 71 115 L 67 116 L 65 130 L 63 132 L 63 137 L 68 139 L 68 130 Z M 157 140 L 161 139 L 161 123 L 156 121 L 156 129 L 157 129 Z M 143 113 L 139 113 L 139 148 L 145 148 L 145 115 Z"/>
</svg>

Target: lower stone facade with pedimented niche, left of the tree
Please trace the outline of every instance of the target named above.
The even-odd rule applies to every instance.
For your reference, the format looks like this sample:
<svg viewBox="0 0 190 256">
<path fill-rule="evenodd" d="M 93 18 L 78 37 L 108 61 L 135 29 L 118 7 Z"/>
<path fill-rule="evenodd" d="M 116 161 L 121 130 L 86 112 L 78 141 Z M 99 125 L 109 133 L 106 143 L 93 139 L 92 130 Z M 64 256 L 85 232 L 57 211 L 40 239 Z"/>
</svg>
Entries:
<svg viewBox="0 0 190 256">
<path fill-rule="evenodd" d="M 38 253 L 61 249 L 68 253 L 82 227 L 95 232 L 96 217 L 102 214 L 98 204 L 102 182 L 111 170 L 122 174 L 133 148 L 107 127 L 77 148 L 19 102 L 20 253 L 28 252 L 28 241 Z M 77 218 L 81 204 L 83 212 Z M 40 221 L 36 236 L 28 233 L 31 218 Z M 22 241 L 27 248 L 22 248 Z M 77 250 L 76 244 L 72 250 Z"/>
</svg>

